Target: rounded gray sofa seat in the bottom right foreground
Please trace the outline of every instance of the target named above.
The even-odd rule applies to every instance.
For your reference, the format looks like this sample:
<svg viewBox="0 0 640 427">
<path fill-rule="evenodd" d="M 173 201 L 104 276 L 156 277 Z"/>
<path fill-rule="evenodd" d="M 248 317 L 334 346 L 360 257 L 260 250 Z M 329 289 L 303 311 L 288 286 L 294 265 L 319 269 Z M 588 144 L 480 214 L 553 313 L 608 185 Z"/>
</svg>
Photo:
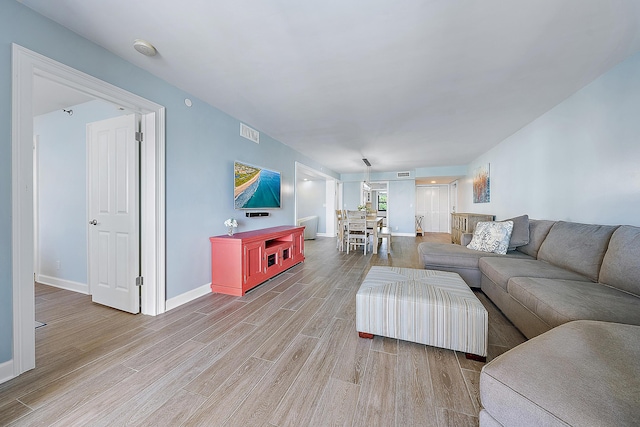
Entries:
<svg viewBox="0 0 640 427">
<path fill-rule="evenodd" d="M 640 420 L 640 326 L 569 322 L 480 373 L 480 400 L 503 426 L 631 426 Z"/>
</svg>

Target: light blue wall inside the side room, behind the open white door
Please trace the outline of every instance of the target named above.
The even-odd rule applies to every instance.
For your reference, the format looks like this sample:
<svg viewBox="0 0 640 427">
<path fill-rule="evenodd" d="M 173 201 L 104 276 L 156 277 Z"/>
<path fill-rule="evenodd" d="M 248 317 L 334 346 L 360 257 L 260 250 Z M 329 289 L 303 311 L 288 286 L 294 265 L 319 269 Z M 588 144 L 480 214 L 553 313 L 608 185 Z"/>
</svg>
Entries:
<svg viewBox="0 0 640 427">
<path fill-rule="evenodd" d="M 34 117 L 38 136 L 38 247 L 36 273 L 87 285 L 87 123 L 122 115 L 91 101 Z M 60 261 L 60 269 L 57 268 Z"/>
</svg>

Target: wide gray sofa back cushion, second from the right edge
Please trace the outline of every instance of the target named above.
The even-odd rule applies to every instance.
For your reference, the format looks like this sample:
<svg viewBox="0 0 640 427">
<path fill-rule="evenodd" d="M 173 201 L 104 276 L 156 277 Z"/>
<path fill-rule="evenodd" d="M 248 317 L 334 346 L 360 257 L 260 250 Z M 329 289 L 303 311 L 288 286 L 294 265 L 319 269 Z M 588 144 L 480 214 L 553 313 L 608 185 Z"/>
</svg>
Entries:
<svg viewBox="0 0 640 427">
<path fill-rule="evenodd" d="M 618 226 L 558 221 L 538 251 L 538 259 L 598 281 L 611 235 Z"/>
</svg>

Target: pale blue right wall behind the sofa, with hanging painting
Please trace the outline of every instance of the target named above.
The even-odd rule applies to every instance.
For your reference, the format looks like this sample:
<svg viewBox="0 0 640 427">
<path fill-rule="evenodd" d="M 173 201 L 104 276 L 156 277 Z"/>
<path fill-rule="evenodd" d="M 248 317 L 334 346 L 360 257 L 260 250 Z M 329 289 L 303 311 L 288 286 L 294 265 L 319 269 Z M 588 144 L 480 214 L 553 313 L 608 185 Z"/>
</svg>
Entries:
<svg viewBox="0 0 640 427">
<path fill-rule="evenodd" d="M 490 164 L 491 202 L 460 211 L 640 226 L 640 53 L 605 73 L 470 166 Z"/>
</svg>

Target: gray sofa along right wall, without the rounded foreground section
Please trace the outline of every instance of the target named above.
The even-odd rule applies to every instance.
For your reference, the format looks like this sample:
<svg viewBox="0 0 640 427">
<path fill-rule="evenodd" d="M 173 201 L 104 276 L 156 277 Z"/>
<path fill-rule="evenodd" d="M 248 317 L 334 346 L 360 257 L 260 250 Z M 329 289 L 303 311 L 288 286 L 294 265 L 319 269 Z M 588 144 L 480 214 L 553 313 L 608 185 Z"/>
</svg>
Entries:
<svg viewBox="0 0 640 427">
<path fill-rule="evenodd" d="M 506 255 L 447 243 L 421 243 L 418 253 L 425 268 L 480 287 L 527 338 L 571 320 L 640 325 L 639 227 L 525 224 L 527 243 Z"/>
</svg>

